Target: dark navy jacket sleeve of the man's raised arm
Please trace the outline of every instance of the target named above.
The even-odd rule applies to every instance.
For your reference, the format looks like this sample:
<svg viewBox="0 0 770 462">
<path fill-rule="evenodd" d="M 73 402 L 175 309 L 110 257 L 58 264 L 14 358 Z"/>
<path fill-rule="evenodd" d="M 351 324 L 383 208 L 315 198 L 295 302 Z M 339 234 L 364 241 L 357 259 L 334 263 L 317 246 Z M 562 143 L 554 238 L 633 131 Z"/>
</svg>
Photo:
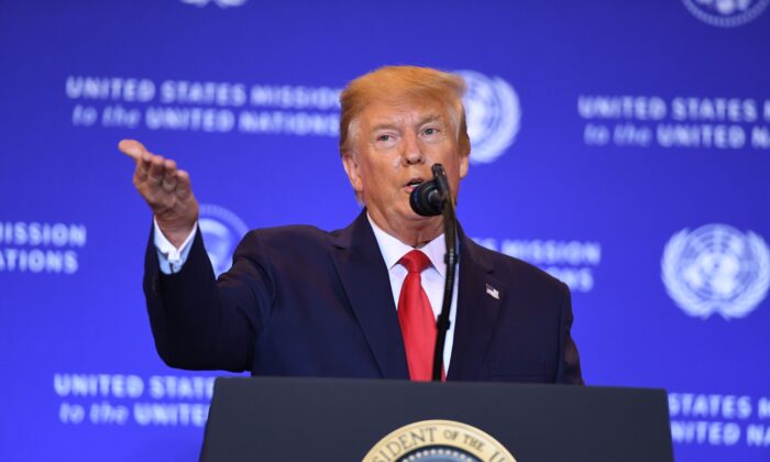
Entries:
<svg viewBox="0 0 770 462">
<path fill-rule="evenodd" d="M 150 237 L 144 295 L 155 348 L 163 361 L 188 370 L 250 370 L 253 348 L 272 305 L 275 285 L 253 233 L 239 244 L 233 267 L 215 279 L 198 231 L 176 274 L 160 271 Z"/>
</svg>

